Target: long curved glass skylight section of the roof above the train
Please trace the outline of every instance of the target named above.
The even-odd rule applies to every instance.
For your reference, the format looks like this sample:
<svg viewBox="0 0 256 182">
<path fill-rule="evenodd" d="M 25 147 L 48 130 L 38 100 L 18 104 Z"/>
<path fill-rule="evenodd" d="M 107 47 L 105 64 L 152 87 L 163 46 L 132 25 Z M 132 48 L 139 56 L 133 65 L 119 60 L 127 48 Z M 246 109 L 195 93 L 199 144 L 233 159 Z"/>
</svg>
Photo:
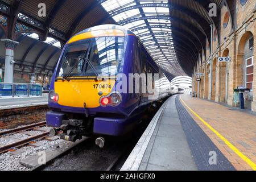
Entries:
<svg viewBox="0 0 256 182">
<path fill-rule="evenodd" d="M 112 18 L 117 24 L 129 28 L 139 36 L 156 63 L 172 74 L 184 75 L 176 57 L 168 0 L 108 0 L 101 5 L 110 16 L 113 14 Z M 144 19 L 147 16 L 155 17 Z M 129 21 L 131 19 L 133 22 Z"/>
</svg>

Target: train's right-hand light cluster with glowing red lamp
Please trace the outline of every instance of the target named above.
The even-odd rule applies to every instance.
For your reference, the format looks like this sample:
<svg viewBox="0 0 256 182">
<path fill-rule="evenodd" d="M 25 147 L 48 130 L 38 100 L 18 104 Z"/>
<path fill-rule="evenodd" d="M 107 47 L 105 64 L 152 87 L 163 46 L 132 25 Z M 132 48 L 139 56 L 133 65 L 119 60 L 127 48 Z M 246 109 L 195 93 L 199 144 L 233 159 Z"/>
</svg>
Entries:
<svg viewBox="0 0 256 182">
<path fill-rule="evenodd" d="M 103 107 L 106 106 L 118 106 L 122 101 L 122 96 L 119 92 L 112 92 L 108 96 L 103 96 L 100 98 L 100 104 Z"/>
</svg>

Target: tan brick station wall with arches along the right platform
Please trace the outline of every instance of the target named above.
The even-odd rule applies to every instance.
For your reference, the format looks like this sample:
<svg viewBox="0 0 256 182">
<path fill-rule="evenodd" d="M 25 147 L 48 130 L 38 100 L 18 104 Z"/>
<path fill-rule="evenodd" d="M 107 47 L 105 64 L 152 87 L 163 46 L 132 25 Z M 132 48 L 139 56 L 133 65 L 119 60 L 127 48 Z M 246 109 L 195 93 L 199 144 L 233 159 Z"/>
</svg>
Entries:
<svg viewBox="0 0 256 182">
<path fill-rule="evenodd" d="M 213 81 L 212 81 L 212 98 L 210 93 L 210 77 L 208 77 L 210 52 L 207 49 L 205 55 L 207 60 L 203 59 L 203 64 L 198 70 L 205 73 L 200 84 L 200 97 L 216 102 L 226 102 L 234 106 L 234 88 L 245 85 L 245 59 L 249 56 L 255 56 L 255 35 L 256 35 L 256 2 L 248 0 L 242 6 L 240 0 L 235 0 L 236 17 L 234 23 L 236 30 L 233 30 L 230 15 L 228 16 L 228 24 L 224 26 L 224 20 L 227 22 L 228 7 L 221 7 L 221 24 L 220 24 L 220 43 L 218 38 L 213 42 L 213 59 L 218 56 L 230 56 L 232 61 L 228 63 L 216 63 L 216 68 L 213 66 Z M 229 14 L 229 13 L 228 13 Z M 254 21 L 253 21 L 254 20 Z M 254 48 L 249 50 L 249 39 L 254 37 Z M 224 39 L 225 38 L 225 39 Z M 254 92 L 250 93 L 250 99 L 253 102 L 246 103 L 248 108 L 256 111 L 256 57 L 254 57 Z M 203 87 L 203 88 L 202 88 Z"/>
</svg>

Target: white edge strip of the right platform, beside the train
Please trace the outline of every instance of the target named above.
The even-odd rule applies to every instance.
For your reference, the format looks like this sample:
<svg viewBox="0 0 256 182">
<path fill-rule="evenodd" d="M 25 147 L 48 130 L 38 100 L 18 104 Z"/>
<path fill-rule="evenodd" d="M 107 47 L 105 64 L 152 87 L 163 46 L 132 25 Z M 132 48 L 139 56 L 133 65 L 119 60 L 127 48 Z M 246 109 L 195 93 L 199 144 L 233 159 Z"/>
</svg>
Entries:
<svg viewBox="0 0 256 182">
<path fill-rule="evenodd" d="M 127 158 L 125 164 L 123 164 L 120 171 L 138 171 L 144 153 L 146 152 L 148 143 L 150 142 L 150 139 L 154 133 L 156 123 L 158 123 L 159 117 L 166 108 L 166 104 L 169 101 L 169 99 L 162 105 L 162 107 L 160 107 L 158 112 L 155 114 L 154 118 L 148 125 L 147 129 L 144 131 L 142 137 L 139 139 L 133 151 L 131 151 L 131 154 Z"/>
</svg>

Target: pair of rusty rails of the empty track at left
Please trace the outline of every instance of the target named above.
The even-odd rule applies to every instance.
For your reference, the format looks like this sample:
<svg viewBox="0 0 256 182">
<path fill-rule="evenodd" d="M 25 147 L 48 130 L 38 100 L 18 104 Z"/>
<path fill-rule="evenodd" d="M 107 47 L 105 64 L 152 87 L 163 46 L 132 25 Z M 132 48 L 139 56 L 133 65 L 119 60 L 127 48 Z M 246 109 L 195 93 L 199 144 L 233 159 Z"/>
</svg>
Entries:
<svg viewBox="0 0 256 182">
<path fill-rule="evenodd" d="M 35 128 L 38 129 L 38 128 L 43 127 L 43 126 L 46 126 L 46 122 L 35 123 L 35 124 L 32 124 L 32 125 L 19 127 L 19 128 L 12 129 L 12 130 L 2 131 L 0 133 L 0 137 L 3 137 L 3 135 L 6 135 L 6 134 L 16 134 L 16 133 L 19 133 L 19 132 L 22 132 L 22 131 L 33 130 Z M 45 131 L 45 132 L 42 132 L 38 135 L 33 135 L 31 137 L 28 137 L 28 138 L 25 138 L 25 139 L 20 139 L 16 142 L 13 142 L 13 143 L 10 143 L 10 144 L 0 146 L 0 154 L 3 154 L 4 152 L 9 151 L 12 148 L 19 148 L 19 147 L 25 146 L 26 144 L 29 144 L 33 140 L 42 139 L 42 138 L 47 137 L 48 135 L 49 135 L 49 131 Z"/>
</svg>

